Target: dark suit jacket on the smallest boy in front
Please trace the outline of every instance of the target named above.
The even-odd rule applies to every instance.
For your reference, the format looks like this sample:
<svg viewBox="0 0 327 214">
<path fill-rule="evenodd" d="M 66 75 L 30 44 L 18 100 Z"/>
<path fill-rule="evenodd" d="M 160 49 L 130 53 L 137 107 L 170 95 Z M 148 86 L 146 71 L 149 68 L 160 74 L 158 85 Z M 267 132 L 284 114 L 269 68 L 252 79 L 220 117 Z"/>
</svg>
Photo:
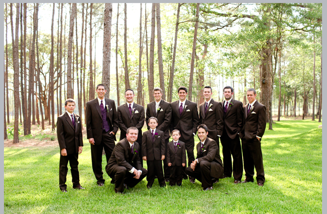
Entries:
<svg viewBox="0 0 327 214">
<path fill-rule="evenodd" d="M 175 150 L 174 141 L 170 141 L 167 144 L 167 163 L 171 163 L 171 165 L 181 166 L 182 163 L 186 164 L 186 152 L 185 152 L 185 143 L 180 140 L 177 141 L 177 148 Z"/>
</svg>

